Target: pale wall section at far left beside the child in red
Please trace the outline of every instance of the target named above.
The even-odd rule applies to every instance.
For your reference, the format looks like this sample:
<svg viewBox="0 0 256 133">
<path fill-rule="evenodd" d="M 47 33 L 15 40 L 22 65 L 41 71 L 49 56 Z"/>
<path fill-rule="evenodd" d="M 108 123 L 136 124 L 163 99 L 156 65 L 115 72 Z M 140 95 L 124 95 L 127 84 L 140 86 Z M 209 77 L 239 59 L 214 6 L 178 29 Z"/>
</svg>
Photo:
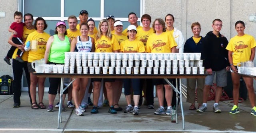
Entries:
<svg viewBox="0 0 256 133">
<path fill-rule="evenodd" d="M 3 59 L 11 47 L 11 45 L 7 43 L 8 38 L 11 35 L 11 33 L 8 32 L 8 28 L 14 21 L 13 14 L 17 10 L 18 0 L 1 0 L 0 12 L 5 12 L 5 17 L 0 18 L 0 76 L 4 74 L 12 76 L 12 66 L 6 64 Z"/>
</svg>

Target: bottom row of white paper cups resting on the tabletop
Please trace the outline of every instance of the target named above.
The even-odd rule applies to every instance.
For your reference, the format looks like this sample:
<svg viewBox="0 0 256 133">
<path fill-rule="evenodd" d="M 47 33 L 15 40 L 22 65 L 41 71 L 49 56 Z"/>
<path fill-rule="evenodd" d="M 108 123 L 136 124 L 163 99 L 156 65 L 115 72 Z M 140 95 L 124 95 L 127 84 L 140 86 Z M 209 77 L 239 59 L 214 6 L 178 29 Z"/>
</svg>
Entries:
<svg viewBox="0 0 256 133">
<path fill-rule="evenodd" d="M 60 67 L 58 67 L 60 69 Z M 63 69 L 63 68 L 62 68 Z M 57 72 L 60 73 L 60 70 Z M 57 73 L 56 72 L 56 73 Z M 54 72 L 55 73 L 55 72 Z M 204 67 L 64 66 L 64 73 L 78 74 L 204 74 Z"/>
</svg>

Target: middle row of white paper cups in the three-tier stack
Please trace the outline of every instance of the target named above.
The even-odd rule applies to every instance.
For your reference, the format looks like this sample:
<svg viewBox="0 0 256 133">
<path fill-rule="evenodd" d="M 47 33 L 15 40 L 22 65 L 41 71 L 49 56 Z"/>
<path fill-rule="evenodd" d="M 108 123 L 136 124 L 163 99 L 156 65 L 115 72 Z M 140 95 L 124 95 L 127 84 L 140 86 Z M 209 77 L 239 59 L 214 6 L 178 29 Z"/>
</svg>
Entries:
<svg viewBox="0 0 256 133">
<path fill-rule="evenodd" d="M 193 67 L 203 66 L 203 60 L 87 60 L 87 59 L 65 59 L 65 66 L 118 66 L 118 67 Z"/>
</svg>

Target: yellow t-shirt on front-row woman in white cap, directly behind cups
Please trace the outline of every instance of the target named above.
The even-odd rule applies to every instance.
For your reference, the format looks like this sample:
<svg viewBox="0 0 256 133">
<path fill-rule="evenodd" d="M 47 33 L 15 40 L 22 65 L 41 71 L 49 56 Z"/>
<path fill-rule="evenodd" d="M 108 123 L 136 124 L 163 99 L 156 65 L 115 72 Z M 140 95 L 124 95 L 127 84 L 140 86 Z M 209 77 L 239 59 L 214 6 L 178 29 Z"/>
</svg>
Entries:
<svg viewBox="0 0 256 133">
<path fill-rule="evenodd" d="M 145 52 L 145 48 L 142 41 L 125 40 L 120 43 L 120 51 L 123 53 L 142 53 Z"/>
</svg>

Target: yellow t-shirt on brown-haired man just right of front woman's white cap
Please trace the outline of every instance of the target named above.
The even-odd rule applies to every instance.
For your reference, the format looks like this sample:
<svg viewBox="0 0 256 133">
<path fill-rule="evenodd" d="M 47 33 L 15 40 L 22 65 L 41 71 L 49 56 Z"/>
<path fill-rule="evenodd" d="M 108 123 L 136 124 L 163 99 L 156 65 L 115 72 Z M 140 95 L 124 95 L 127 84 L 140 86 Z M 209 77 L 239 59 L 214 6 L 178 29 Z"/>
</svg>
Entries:
<svg viewBox="0 0 256 133">
<path fill-rule="evenodd" d="M 154 34 L 153 28 L 150 28 L 149 31 L 144 31 L 143 28 L 137 29 L 136 40 L 142 41 L 142 43 L 144 44 L 145 50 L 146 50 L 148 37 L 152 34 Z"/>
</svg>

